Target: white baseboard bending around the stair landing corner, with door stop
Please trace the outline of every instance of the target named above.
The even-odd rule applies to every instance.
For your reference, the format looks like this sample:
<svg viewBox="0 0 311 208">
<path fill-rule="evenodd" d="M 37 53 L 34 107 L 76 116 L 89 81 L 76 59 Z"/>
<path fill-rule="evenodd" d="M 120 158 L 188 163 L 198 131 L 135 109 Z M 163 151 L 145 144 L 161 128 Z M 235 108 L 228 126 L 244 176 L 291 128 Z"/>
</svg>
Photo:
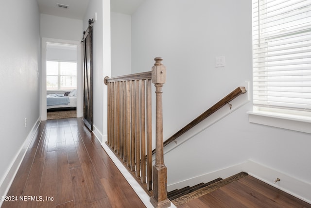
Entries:
<svg viewBox="0 0 311 208">
<path fill-rule="evenodd" d="M 287 192 L 298 199 L 301 199 L 309 204 L 311 204 L 311 184 L 302 181 L 298 178 L 289 176 L 287 174 L 276 171 L 272 168 L 261 165 L 255 161 L 248 160 L 247 162 L 237 164 L 222 170 L 214 171 L 211 173 L 206 173 L 199 175 L 178 183 L 168 185 L 168 191 L 173 191 L 175 189 L 180 189 L 186 186 L 194 186 L 199 183 L 206 183 L 212 181 L 218 177 L 223 179 L 240 173 L 245 172 L 249 175 L 259 179 L 260 181 L 267 183 L 277 189 Z M 276 178 L 280 178 L 279 182 L 273 183 Z"/>
</svg>

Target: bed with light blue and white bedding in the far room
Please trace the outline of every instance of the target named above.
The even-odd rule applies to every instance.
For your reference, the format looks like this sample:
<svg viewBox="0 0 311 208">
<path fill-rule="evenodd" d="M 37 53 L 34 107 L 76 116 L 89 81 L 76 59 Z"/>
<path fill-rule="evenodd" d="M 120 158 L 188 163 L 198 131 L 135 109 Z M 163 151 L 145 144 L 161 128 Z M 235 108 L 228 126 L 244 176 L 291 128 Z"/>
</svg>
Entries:
<svg viewBox="0 0 311 208">
<path fill-rule="evenodd" d="M 55 93 L 47 95 L 47 110 L 75 110 L 77 107 L 77 90 L 65 92 L 64 94 Z"/>
</svg>

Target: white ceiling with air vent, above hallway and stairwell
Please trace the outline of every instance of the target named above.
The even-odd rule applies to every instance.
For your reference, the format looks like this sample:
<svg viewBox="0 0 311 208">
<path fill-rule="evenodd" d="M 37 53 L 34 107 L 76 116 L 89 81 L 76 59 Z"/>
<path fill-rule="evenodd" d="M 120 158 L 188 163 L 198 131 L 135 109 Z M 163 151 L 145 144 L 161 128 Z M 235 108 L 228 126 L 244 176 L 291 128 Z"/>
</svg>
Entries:
<svg viewBox="0 0 311 208">
<path fill-rule="evenodd" d="M 89 0 L 37 0 L 40 13 L 83 19 Z M 144 0 L 111 0 L 111 11 L 131 15 Z M 57 3 L 68 5 L 69 8 L 59 8 Z"/>
</svg>

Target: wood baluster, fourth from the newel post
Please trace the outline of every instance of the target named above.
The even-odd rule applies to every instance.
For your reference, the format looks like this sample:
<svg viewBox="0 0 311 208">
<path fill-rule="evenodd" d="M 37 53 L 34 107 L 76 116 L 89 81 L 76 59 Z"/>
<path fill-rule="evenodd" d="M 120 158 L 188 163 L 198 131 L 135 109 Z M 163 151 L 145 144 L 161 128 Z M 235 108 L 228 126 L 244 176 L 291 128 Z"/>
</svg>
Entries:
<svg viewBox="0 0 311 208">
<path fill-rule="evenodd" d="M 131 171 L 135 171 L 135 81 L 132 81 L 131 86 Z"/>
</svg>

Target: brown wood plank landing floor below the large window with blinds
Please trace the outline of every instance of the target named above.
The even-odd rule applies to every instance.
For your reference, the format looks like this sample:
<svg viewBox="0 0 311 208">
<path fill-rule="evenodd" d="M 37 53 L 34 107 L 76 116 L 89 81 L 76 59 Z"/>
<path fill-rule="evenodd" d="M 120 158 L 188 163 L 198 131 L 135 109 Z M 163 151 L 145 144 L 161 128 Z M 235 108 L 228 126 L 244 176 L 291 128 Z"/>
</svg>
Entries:
<svg viewBox="0 0 311 208">
<path fill-rule="evenodd" d="M 311 205 L 247 175 L 177 208 L 311 208 Z"/>
</svg>

